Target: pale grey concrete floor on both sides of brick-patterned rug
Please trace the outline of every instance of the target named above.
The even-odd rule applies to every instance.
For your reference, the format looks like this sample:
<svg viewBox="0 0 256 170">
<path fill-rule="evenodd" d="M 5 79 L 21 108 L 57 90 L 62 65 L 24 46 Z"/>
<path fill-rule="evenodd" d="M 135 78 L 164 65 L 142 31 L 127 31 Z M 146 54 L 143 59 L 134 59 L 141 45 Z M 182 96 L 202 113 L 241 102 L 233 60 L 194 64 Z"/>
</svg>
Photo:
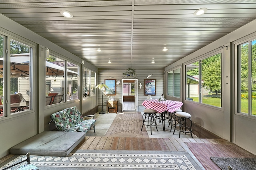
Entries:
<svg viewBox="0 0 256 170">
<path fill-rule="evenodd" d="M 141 114 L 143 115 L 143 111 L 141 112 Z M 96 123 L 95 123 L 95 131 L 96 133 L 94 133 L 94 131 L 88 131 L 86 133 L 86 136 L 97 136 L 97 137 L 102 137 L 106 134 L 106 132 L 108 131 L 108 128 L 110 127 L 110 125 L 112 124 L 114 118 L 116 117 L 116 115 L 118 114 L 123 114 L 122 112 L 118 112 L 116 113 L 106 113 L 106 114 L 99 114 L 96 113 L 95 114 L 95 118 L 97 119 Z M 170 127 L 168 127 L 169 123 L 168 120 L 165 121 L 165 131 L 163 131 L 163 127 L 162 127 L 162 122 L 159 123 L 159 120 L 157 120 L 157 129 L 158 131 L 156 131 L 155 127 L 152 127 L 152 135 L 150 135 L 150 128 L 146 127 L 146 130 L 148 132 L 148 136 L 150 138 L 178 138 L 179 137 L 179 132 L 175 131 L 174 135 L 173 135 L 173 128 L 172 128 L 172 132 L 170 132 Z M 180 138 L 191 138 L 190 133 L 187 133 L 187 135 L 185 135 L 185 133 L 181 133 L 180 134 Z M 193 134 L 193 138 L 198 138 Z"/>
</svg>

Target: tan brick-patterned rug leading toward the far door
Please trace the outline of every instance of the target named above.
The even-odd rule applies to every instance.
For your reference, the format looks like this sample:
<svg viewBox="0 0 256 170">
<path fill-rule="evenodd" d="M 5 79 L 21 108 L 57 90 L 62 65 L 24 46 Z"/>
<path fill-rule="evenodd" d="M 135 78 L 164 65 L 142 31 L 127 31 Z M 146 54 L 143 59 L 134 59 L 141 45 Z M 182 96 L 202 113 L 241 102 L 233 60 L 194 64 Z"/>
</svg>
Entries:
<svg viewBox="0 0 256 170">
<path fill-rule="evenodd" d="M 116 115 L 105 136 L 107 137 L 148 137 L 145 126 L 142 131 L 141 112 L 122 112 Z"/>
</svg>

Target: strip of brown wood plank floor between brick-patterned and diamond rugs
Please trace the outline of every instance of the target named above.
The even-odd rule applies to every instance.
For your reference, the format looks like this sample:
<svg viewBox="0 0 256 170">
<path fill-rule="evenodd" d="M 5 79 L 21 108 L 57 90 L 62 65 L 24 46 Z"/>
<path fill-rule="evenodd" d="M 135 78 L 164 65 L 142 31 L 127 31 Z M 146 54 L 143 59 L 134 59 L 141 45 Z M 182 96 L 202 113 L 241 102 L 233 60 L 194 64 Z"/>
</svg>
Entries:
<svg viewBox="0 0 256 170">
<path fill-rule="evenodd" d="M 225 139 L 85 137 L 76 150 L 167 150 L 188 151 L 186 143 L 234 145 Z"/>
</svg>

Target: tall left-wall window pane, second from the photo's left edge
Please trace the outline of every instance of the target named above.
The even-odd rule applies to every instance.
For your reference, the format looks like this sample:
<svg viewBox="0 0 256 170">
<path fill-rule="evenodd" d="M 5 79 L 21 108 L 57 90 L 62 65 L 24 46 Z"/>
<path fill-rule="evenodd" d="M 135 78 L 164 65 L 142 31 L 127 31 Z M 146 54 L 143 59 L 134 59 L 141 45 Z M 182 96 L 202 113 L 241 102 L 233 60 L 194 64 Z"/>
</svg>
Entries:
<svg viewBox="0 0 256 170">
<path fill-rule="evenodd" d="M 32 47 L 10 41 L 10 110 L 11 113 L 30 108 Z"/>
</svg>

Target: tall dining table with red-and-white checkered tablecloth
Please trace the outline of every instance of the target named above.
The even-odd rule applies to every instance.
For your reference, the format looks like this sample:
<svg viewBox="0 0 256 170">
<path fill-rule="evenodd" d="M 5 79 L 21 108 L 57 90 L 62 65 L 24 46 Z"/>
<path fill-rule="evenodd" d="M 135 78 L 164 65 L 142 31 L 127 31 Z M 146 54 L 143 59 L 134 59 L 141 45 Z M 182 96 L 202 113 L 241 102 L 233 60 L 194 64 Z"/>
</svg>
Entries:
<svg viewBox="0 0 256 170">
<path fill-rule="evenodd" d="M 163 131 L 165 131 L 164 120 L 169 119 L 170 113 L 173 113 L 175 110 L 180 109 L 183 105 L 182 102 L 174 101 L 174 100 L 164 100 L 161 101 L 159 99 L 145 100 L 142 102 L 142 105 L 145 106 L 146 109 L 154 109 L 157 113 L 159 113 L 159 119 L 162 120 Z M 169 117 L 165 117 L 169 112 Z"/>
</svg>

